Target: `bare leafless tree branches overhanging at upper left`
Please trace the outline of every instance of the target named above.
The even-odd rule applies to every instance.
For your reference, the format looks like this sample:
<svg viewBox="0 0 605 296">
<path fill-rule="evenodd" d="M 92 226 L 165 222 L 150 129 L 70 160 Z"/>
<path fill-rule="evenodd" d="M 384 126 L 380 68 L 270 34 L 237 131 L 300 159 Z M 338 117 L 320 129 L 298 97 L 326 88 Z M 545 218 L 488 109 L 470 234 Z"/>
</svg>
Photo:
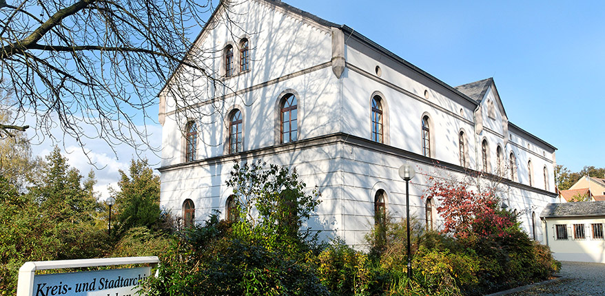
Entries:
<svg viewBox="0 0 605 296">
<path fill-rule="evenodd" d="M 214 90 L 201 89 L 200 81 L 221 84 L 207 67 L 216 49 L 194 47 L 191 38 L 216 10 L 225 12 L 216 14 L 218 21 L 236 26 L 228 3 L 0 1 L 0 71 L 19 118 L 1 120 L 0 136 L 28 129 L 28 113 L 39 136 L 54 140 L 49 131 L 58 126 L 81 145 L 85 138 L 101 138 L 110 147 L 116 141 L 141 147 L 139 140 L 148 142 L 144 125 L 153 121 L 148 112 L 160 89 L 174 98 L 196 97 L 189 92 L 199 89 L 203 98 L 212 98 Z"/>
</svg>

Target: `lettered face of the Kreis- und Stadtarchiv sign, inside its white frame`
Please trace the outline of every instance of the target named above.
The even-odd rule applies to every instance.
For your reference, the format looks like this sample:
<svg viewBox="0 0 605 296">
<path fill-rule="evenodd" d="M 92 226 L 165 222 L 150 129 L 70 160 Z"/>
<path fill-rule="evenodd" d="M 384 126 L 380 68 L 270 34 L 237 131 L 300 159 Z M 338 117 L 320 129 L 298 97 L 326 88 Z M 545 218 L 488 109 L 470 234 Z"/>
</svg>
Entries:
<svg viewBox="0 0 605 296">
<path fill-rule="evenodd" d="M 36 275 L 32 296 L 132 296 L 150 274 L 150 267 L 139 267 Z"/>
</svg>

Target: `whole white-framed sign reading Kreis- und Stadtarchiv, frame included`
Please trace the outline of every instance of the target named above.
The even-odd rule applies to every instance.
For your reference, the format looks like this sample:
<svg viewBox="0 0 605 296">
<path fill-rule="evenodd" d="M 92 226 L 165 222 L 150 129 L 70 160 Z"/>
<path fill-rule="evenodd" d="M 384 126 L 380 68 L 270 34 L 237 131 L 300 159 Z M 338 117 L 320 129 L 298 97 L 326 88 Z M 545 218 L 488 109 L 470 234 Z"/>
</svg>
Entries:
<svg viewBox="0 0 605 296">
<path fill-rule="evenodd" d="M 25 262 L 19 268 L 17 296 L 134 296 L 139 282 L 151 275 L 151 267 L 47 275 L 37 275 L 36 271 L 158 263 L 156 256 Z"/>
</svg>

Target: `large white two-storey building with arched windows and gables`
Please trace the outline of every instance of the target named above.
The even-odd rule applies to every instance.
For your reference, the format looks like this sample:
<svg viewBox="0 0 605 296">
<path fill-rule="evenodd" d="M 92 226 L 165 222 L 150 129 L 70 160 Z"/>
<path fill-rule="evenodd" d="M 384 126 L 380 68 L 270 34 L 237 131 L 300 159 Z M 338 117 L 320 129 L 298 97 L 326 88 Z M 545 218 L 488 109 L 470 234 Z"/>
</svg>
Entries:
<svg viewBox="0 0 605 296">
<path fill-rule="evenodd" d="M 176 108 L 183 98 L 167 88 L 159 94 L 165 209 L 197 222 L 214 209 L 226 215 L 233 161 L 262 159 L 296 167 L 317 185 L 322 203 L 309 226 L 356 245 L 374 224 L 377 199 L 404 217 L 402 164 L 418 172 L 413 215 L 438 224 L 435 201 L 426 217 L 421 198 L 428 176 L 497 178 L 512 163 L 502 169 L 502 198 L 529 210 L 524 227 L 542 240 L 534 212 L 557 196 L 555 147 L 509 122 L 493 79 L 451 87 L 347 25 L 281 1 L 245 1 L 232 11 L 237 26 L 225 25 L 219 9 L 196 41 L 214 51 L 208 64 L 225 86 L 201 79 L 212 95 L 192 90 L 195 112 Z"/>
</svg>

